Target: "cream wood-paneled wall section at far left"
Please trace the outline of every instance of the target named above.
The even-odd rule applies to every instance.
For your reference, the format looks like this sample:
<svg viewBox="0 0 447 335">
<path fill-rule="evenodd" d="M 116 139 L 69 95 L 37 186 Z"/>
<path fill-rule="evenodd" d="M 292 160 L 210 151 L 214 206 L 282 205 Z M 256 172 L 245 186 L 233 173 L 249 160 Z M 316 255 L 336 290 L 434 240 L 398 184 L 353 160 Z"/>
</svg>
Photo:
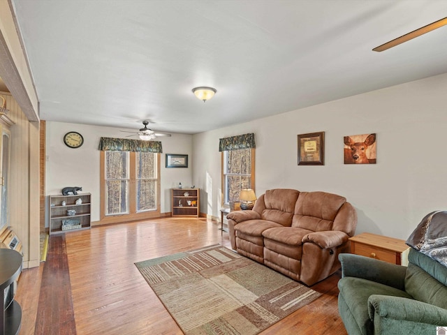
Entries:
<svg viewBox="0 0 447 335">
<path fill-rule="evenodd" d="M 10 128 L 9 225 L 22 241 L 23 266 L 36 267 L 39 255 L 39 131 L 8 92 L 0 92 L 14 122 Z"/>
</svg>

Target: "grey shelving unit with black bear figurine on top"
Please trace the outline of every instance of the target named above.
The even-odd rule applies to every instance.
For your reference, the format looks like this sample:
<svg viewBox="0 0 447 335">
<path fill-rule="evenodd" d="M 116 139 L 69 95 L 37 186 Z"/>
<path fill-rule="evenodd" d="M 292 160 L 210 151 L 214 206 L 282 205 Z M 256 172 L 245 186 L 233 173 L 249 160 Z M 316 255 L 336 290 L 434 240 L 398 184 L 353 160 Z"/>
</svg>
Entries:
<svg viewBox="0 0 447 335">
<path fill-rule="evenodd" d="M 80 204 L 76 200 L 81 199 Z M 63 205 L 62 202 L 66 204 Z M 91 225 L 91 194 L 79 193 L 78 195 L 50 195 L 50 234 L 73 232 L 74 230 L 90 229 Z M 68 215 L 68 210 L 74 210 L 74 215 Z"/>
</svg>

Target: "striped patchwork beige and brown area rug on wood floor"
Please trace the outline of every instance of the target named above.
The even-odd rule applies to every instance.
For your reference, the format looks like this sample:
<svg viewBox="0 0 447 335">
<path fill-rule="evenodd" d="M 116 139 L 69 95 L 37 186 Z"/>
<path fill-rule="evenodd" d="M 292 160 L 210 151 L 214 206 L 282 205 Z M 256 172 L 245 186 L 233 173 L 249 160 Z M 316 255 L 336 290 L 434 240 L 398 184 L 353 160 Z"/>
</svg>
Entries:
<svg viewBox="0 0 447 335">
<path fill-rule="evenodd" d="M 135 265 L 187 335 L 258 334 L 321 295 L 220 245 Z"/>
</svg>

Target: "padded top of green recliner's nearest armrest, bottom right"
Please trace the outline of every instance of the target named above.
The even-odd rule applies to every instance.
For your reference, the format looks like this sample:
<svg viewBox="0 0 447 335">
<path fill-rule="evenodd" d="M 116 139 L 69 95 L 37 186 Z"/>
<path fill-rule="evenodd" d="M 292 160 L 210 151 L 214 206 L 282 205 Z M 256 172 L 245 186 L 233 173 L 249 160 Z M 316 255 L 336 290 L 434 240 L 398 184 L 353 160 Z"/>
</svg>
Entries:
<svg viewBox="0 0 447 335">
<path fill-rule="evenodd" d="M 369 318 L 419 322 L 428 325 L 447 325 L 447 309 L 425 302 L 388 295 L 371 295 L 368 299 Z"/>
</svg>

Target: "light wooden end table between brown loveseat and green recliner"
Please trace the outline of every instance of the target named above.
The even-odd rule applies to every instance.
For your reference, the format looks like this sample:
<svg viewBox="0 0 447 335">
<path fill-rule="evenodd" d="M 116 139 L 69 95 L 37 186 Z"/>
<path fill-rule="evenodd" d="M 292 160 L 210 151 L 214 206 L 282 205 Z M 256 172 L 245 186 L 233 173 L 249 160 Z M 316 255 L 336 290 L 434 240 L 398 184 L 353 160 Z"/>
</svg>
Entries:
<svg viewBox="0 0 447 335">
<path fill-rule="evenodd" d="M 397 265 L 408 265 L 409 246 L 403 239 L 362 232 L 349 241 L 351 253 Z"/>
</svg>

